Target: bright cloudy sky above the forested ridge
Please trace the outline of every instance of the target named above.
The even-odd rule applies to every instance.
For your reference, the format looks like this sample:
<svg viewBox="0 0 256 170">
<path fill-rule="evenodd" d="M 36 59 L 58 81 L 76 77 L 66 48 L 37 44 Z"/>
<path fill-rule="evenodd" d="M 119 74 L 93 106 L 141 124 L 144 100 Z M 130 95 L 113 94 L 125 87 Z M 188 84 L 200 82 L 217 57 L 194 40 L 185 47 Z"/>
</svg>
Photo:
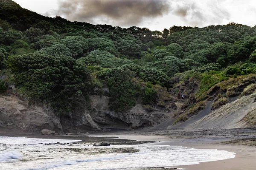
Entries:
<svg viewBox="0 0 256 170">
<path fill-rule="evenodd" d="M 256 25 L 256 0 L 14 0 L 49 17 L 163 31 L 172 26 L 204 27 L 230 22 Z"/>
</svg>

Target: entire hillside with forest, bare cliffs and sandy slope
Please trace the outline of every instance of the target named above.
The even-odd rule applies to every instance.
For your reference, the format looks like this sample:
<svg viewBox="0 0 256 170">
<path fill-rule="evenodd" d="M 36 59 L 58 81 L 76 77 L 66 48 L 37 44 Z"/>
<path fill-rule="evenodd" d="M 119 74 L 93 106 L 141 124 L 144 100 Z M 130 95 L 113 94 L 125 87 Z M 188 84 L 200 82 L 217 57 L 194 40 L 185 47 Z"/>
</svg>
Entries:
<svg viewBox="0 0 256 170">
<path fill-rule="evenodd" d="M 255 31 L 236 23 L 163 32 L 92 25 L 0 0 L 0 127 L 255 127 Z M 38 109 L 44 121 L 27 125 L 26 111 L 36 117 Z M 216 126 L 224 121 L 217 115 L 231 113 Z"/>
</svg>

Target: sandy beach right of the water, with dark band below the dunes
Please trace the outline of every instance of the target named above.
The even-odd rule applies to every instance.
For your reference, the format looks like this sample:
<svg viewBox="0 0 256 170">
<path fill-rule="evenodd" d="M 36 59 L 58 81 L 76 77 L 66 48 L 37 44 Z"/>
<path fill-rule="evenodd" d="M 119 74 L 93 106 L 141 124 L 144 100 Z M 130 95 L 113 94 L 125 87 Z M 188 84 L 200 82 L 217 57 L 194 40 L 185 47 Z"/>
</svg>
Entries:
<svg viewBox="0 0 256 170">
<path fill-rule="evenodd" d="M 182 136 L 186 132 L 189 135 Z M 256 147 L 252 146 L 256 145 L 256 141 L 254 141 L 256 139 L 255 130 L 135 131 L 133 133 L 128 132 L 128 134 L 124 134 L 124 132 L 119 132 L 115 134 L 107 133 L 107 135 L 106 133 L 100 133 L 90 136 L 118 136 L 120 139 L 162 141 L 154 144 L 197 149 L 217 149 L 236 153 L 236 157 L 233 159 L 202 162 L 200 164 L 175 166 L 172 168 L 186 170 L 256 170 Z M 201 136 L 198 135 L 196 137 L 198 133 L 201 133 Z"/>
</svg>

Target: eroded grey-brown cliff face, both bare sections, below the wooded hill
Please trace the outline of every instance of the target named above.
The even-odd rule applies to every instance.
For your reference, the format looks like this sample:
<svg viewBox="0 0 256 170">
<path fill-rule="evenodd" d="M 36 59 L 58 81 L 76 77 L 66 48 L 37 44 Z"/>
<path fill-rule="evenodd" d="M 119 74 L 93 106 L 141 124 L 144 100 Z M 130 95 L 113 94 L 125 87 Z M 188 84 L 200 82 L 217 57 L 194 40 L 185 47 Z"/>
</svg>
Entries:
<svg viewBox="0 0 256 170">
<path fill-rule="evenodd" d="M 171 112 L 154 108 L 146 111 L 137 104 L 130 111 L 116 113 L 109 111 L 107 96 L 93 95 L 91 111 L 78 108 L 72 114 L 58 117 L 47 107 L 29 106 L 15 95 L 0 96 L 0 129 L 19 130 L 25 133 L 40 133 L 43 129 L 54 130 L 58 134 L 85 133 L 108 129 L 136 129 L 152 127 L 164 122 Z"/>
</svg>

